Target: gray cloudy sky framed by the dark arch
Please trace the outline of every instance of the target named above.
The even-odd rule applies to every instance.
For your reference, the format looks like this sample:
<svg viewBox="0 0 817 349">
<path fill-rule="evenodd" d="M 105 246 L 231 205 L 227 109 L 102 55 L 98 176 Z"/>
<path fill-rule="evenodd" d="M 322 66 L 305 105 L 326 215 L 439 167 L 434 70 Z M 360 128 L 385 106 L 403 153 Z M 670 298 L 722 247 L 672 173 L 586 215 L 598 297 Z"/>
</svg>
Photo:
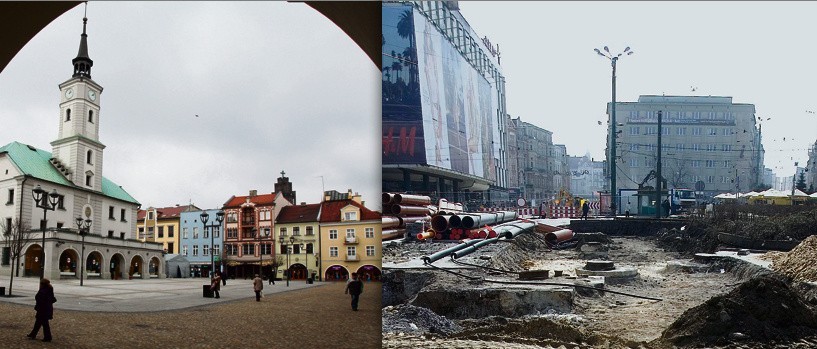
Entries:
<svg viewBox="0 0 817 349">
<path fill-rule="evenodd" d="M 51 151 L 58 84 L 73 72 L 84 6 L 37 34 L 0 73 L 0 143 Z M 270 193 L 352 189 L 380 207 L 380 72 L 302 3 L 91 2 L 103 175 L 148 206 L 220 207 Z M 195 117 L 195 115 L 199 117 Z"/>
</svg>

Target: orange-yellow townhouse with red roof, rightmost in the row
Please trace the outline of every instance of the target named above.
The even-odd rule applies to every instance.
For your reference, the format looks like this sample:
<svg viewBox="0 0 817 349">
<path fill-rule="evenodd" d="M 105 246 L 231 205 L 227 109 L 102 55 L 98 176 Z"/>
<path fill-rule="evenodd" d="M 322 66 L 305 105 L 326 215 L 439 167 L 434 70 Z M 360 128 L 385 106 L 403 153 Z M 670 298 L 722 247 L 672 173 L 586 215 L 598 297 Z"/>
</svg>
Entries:
<svg viewBox="0 0 817 349">
<path fill-rule="evenodd" d="M 326 192 L 321 202 L 320 256 L 324 280 L 347 280 L 357 272 L 364 281 L 380 280 L 380 214 L 363 206 L 358 194 Z"/>
</svg>

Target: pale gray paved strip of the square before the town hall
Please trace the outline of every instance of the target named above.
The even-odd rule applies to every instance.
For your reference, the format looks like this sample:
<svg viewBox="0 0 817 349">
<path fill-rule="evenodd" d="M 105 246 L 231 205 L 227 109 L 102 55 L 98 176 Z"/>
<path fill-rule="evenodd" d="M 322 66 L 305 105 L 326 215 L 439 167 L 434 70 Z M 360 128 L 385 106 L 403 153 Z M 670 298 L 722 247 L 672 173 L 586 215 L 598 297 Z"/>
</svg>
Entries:
<svg viewBox="0 0 817 349">
<path fill-rule="evenodd" d="M 11 297 L 0 297 L 0 302 L 28 304 L 34 306 L 34 295 L 39 288 L 39 278 L 14 278 L 14 292 Z M 0 275 L 0 286 L 6 287 L 8 294 L 9 278 Z M 224 303 L 239 299 L 255 298 L 252 280 L 227 280 L 221 286 L 221 298 L 204 298 L 202 286 L 208 285 L 208 279 L 140 279 L 140 280 L 85 280 L 84 286 L 79 280 L 52 280 L 57 303 L 54 308 L 94 312 L 152 312 L 184 309 L 214 303 Z M 307 284 L 304 280 L 276 281 L 275 285 L 264 282 L 264 293 L 296 291 L 309 287 L 325 285 L 319 281 Z"/>
</svg>

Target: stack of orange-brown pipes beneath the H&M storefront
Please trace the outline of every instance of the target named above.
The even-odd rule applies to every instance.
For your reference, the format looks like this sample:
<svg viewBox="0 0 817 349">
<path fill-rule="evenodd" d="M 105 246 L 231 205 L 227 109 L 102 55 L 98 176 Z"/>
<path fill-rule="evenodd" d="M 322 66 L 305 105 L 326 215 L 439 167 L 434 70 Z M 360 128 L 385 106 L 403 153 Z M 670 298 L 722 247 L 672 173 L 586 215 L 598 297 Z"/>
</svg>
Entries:
<svg viewBox="0 0 817 349">
<path fill-rule="evenodd" d="M 436 211 L 428 196 L 383 193 L 382 199 L 383 240 L 404 237 L 407 223 L 430 221 L 431 213 Z"/>
</svg>

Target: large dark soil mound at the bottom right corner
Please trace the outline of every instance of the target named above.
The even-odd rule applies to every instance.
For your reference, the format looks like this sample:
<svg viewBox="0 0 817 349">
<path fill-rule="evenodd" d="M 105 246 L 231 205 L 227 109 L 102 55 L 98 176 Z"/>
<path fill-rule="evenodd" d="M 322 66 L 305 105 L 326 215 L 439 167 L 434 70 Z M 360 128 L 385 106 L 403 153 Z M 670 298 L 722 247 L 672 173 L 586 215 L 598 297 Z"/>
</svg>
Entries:
<svg viewBox="0 0 817 349">
<path fill-rule="evenodd" d="M 788 283 L 766 275 L 687 310 L 653 344 L 702 347 L 815 335 L 817 310 Z"/>
</svg>

